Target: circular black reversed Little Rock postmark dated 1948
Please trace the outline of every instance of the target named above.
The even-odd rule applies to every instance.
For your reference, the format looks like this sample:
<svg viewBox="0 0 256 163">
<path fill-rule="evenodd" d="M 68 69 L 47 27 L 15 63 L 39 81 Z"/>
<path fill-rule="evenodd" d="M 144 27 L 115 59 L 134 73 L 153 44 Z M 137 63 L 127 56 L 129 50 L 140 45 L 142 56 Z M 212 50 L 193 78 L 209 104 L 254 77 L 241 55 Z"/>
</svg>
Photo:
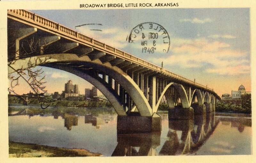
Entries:
<svg viewBox="0 0 256 163">
<path fill-rule="evenodd" d="M 126 41 L 139 45 L 142 53 L 168 53 L 170 48 L 168 32 L 154 22 L 145 22 L 134 27 Z"/>
</svg>

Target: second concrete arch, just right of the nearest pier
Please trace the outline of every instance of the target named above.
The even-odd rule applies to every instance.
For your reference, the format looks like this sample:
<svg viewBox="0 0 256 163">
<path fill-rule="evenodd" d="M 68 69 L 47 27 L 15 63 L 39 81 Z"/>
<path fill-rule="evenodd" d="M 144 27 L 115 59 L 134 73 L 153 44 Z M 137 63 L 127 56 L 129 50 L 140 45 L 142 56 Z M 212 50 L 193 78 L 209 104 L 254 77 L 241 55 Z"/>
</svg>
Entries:
<svg viewBox="0 0 256 163">
<path fill-rule="evenodd" d="M 180 96 L 180 101 L 181 101 L 181 104 L 182 104 L 182 107 L 183 108 L 189 108 L 189 102 L 188 102 L 188 96 L 186 94 L 186 90 L 185 88 L 181 85 L 181 84 L 177 84 L 177 83 L 174 83 L 174 82 L 171 82 L 169 83 L 163 90 L 161 96 L 158 98 L 158 101 L 156 103 L 156 109 L 158 109 L 159 105 L 160 105 L 160 102 L 162 100 L 162 98 L 164 97 L 164 94 L 166 91 L 168 91 L 168 89 L 171 87 L 171 86 L 174 86 L 174 88 L 177 90 L 179 96 Z M 173 108 L 174 108 L 174 104 L 175 102 L 173 101 L 171 95 L 168 93 L 168 95 L 165 96 L 166 99 L 167 99 L 167 103 L 168 105 L 172 106 L 173 105 Z"/>
</svg>

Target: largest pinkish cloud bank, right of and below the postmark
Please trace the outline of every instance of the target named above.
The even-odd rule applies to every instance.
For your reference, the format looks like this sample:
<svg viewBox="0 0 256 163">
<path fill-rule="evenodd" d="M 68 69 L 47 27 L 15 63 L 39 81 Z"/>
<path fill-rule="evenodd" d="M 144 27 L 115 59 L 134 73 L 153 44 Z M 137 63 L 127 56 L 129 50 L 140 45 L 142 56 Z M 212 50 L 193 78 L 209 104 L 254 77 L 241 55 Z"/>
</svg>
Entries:
<svg viewBox="0 0 256 163">
<path fill-rule="evenodd" d="M 220 75 L 237 75 L 250 73 L 248 52 L 231 49 L 230 44 L 200 39 L 173 39 L 172 55 L 169 57 L 151 57 L 149 61 L 165 66 L 182 68 L 203 68 L 203 71 Z"/>
</svg>

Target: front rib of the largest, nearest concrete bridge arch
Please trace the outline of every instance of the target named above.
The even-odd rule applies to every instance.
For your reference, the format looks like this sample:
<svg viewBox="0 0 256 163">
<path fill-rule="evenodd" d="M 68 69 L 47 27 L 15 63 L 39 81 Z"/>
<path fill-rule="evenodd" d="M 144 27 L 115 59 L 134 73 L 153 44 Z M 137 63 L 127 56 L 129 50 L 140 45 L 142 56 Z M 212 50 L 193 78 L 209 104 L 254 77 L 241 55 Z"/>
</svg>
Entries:
<svg viewBox="0 0 256 163">
<path fill-rule="evenodd" d="M 133 81 L 133 79 L 117 66 L 112 66 L 108 62 L 105 64 L 102 64 L 100 59 L 91 60 L 86 55 L 82 57 L 78 57 L 76 54 L 66 54 L 66 53 L 65 54 L 46 54 L 46 55 L 18 59 L 11 66 L 14 69 L 19 69 L 20 66 L 23 66 L 23 68 L 25 68 L 25 66 L 28 66 L 28 62 L 35 62 L 35 63 L 37 62 L 36 64 L 38 64 L 39 60 L 46 60 L 45 64 L 40 66 L 49 66 L 49 67 L 55 66 L 57 68 L 58 67 L 56 66 L 57 63 L 60 64 L 64 62 L 67 65 L 70 62 L 81 62 L 81 63 L 85 63 L 86 66 L 91 66 L 97 70 L 100 70 L 101 72 L 108 74 L 112 79 L 117 81 L 125 89 L 125 91 L 129 94 L 129 96 L 134 101 L 141 116 L 152 116 L 153 114 L 152 108 L 149 105 L 147 98 L 144 96 L 143 92 L 140 90 L 139 86 Z M 8 72 L 12 73 L 13 69 L 11 67 L 8 67 L 8 68 L 9 68 Z M 71 71 L 73 71 L 73 73 L 77 73 L 78 75 L 83 76 L 83 73 L 81 72 L 79 73 L 74 69 Z M 94 82 L 93 79 L 90 79 L 90 80 L 91 82 Z M 106 95 L 108 96 L 108 93 L 106 91 L 104 90 L 102 91 L 105 92 Z M 113 97 L 107 97 L 107 98 L 113 99 Z M 115 103 L 114 101 L 115 100 L 113 99 L 112 103 Z"/>
</svg>

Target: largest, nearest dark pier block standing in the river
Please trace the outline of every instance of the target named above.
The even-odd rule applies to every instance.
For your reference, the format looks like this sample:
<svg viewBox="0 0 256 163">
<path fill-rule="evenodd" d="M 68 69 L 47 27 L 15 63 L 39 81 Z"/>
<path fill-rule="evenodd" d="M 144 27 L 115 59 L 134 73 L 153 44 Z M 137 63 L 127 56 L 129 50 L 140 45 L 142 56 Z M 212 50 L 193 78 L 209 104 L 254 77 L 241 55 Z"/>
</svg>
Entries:
<svg viewBox="0 0 256 163">
<path fill-rule="evenodd" d="M 144 133 L 161 130 L 161 117 L 156 113 L 152 117 L 117 116 L 117 134 Z"/>
</svg>

